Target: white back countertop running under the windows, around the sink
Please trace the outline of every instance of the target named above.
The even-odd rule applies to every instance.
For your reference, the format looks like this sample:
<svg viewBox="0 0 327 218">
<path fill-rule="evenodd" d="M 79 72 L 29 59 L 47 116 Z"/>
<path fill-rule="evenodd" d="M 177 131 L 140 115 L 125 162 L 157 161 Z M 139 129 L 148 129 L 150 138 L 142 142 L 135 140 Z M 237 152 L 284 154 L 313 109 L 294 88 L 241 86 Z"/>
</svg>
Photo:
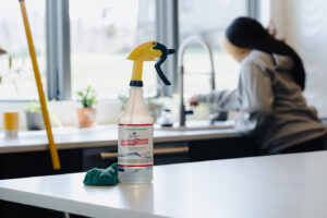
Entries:
<svg viewBox="0 0 327 218">
<path fill-rule="evenodd" d="M 99 125 L 89 129 L 59 128 L 53 129 L 58 149 L 101 147 L 117 145 L 117 125 Z M 182 142 L 238 137 L 241 133 L 235 129 L 167 131 L 155 130 L 155 143 Z M 21 153 L 48 149 L 46 131 L 22 131 L 17 138 L 5 140 L 0 136 L 0 154 Z"/>
</svg>

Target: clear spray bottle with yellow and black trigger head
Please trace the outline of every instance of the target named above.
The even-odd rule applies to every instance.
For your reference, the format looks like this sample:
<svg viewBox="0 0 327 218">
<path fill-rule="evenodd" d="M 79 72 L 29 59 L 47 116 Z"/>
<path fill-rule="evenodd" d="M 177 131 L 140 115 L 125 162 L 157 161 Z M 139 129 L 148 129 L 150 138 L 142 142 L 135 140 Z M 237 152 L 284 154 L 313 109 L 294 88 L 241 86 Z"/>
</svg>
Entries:
<svg viewBox="0 0 327 218">
<path fill-rule="evenodd" d="M 129 60 L 134 61 L 130 83 L 130 97 L 125 111 L 119 119 L 118 178 L 122 183 L 149 183 L 154 166 L 154 119 L 149 114 L 143 97 L 143 61 L 155 61 L 155 68 L 166 85 L 170 82 L 160 65 L 173 49 L 157 41 L 148 41 L 134 49 Z"/>
</svg>

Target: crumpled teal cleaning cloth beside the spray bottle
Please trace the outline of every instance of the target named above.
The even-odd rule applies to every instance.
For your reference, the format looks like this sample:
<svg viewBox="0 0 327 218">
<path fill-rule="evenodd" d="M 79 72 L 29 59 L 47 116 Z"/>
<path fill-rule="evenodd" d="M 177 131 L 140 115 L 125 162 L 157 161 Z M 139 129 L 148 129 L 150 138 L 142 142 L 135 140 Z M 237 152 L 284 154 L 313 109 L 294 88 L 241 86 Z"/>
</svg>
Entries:
<svg viewBox="0 0 327 218">
<path fill-rule="evenodd" d="M 85 174 L 83 183 L 85 185 L 105 186 L 114 185 L 118 181 L 118 165 L 112 164 L 107 169 L 93 168 Z"/>
</svg>

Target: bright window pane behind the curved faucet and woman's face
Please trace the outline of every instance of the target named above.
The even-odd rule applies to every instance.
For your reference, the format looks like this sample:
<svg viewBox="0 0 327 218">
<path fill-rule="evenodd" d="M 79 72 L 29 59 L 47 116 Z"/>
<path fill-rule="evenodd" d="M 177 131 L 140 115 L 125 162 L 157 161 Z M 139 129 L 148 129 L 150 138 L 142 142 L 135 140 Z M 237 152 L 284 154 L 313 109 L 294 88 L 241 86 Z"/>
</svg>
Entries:
<svg viewBox="0 0 327 218">
<path fill-rule="evenodd" d="M 233 88 L 239 76 L 239 64 L 221 51 L 220 37 L 225 27 L 237 16 L 247 15 L 247 0 L 180 0 L 179 32 L 180 41 L 191 35 L 201 35 L 211 46 L 216 72 L 216 88 Z M 184 55 L 184 94 L 210 90 L 210 62 L 205 50 L 190 45 Z M 189 72 L 189 74 L 187 74 Z M 203 74 L 202 74 L 203 73 Z"/>
</svg>

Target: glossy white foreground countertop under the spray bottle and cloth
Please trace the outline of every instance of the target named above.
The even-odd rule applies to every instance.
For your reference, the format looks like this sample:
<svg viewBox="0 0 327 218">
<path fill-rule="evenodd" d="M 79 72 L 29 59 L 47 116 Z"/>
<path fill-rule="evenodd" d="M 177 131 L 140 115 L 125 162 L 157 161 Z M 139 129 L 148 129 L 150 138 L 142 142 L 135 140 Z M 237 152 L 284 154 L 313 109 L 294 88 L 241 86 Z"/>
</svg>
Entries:
<svg viewBox="0 0 327 218">
<path fill-rule="evenodd" d="M 85 173 L 0 181 L 0 198 L 90 217 L 326 218 L 327 152 L 155 167 L 150 184 Z"/>
</svg>

